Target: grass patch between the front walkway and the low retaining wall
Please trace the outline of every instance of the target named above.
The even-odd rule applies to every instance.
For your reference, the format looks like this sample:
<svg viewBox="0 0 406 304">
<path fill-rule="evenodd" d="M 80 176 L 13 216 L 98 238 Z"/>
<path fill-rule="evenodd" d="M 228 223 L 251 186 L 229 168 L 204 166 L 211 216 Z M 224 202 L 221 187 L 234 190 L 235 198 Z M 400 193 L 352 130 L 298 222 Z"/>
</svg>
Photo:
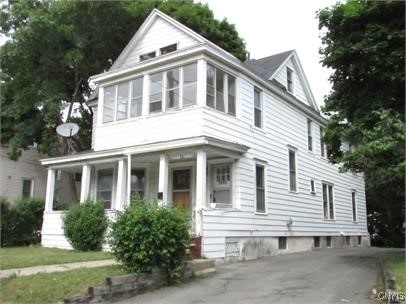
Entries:
<svg viewBox="0 0 406 304">
<path fill-rule="evenodd" d="M 105 266 L 10 277 L 0 281 L 1 303 L 57 303 L 86 292 L 107 276 L 122 274 L 125 272 L 119 266 Z"/>
</svg>

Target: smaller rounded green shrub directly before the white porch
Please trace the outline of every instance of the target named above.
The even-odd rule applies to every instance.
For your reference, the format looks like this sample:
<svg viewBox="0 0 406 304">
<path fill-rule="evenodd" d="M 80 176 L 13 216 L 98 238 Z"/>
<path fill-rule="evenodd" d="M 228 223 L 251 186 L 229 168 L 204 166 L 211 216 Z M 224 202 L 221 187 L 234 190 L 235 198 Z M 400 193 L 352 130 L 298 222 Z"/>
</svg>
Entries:
<svg viewBox="0 0 406 304">
<path fill-rule="evenodd" d="M 108 220 L 100 202 L 87 200 L 71 206 L 63 215 L 65 236 L 76 250 L 101 250 L 107 226 Z"/>
</svg>

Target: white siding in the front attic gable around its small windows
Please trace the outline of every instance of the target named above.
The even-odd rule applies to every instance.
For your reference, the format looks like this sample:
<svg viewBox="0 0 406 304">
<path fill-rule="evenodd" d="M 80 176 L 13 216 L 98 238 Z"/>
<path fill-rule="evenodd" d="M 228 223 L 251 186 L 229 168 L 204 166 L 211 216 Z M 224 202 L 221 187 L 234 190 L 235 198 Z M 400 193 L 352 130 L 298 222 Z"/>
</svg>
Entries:
<svg viewBox="0 0 406 304">
<path fill-rule="evenodd" d="M 198 44 L 198 41 L 162 18 L 156 18 L 148 32 L 126 56 L 120 67 L 132 66 L 139 62 L 140 55 L 159 51 L 161 47 L 174 43 L 178 44 L 178 50 L 180 50 L 194 46 Z"/>
</svg>

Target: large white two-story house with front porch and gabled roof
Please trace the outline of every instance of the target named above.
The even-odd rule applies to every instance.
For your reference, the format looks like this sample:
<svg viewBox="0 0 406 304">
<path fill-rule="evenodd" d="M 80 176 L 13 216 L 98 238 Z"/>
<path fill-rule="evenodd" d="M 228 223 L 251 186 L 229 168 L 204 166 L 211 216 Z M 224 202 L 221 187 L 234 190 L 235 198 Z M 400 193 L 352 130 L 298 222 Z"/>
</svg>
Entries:
<svg viewBox="0 0 406 304">
<path fill-rule="evenodd" d="M 91 81 L 92 151 L 42 160 L 44 246 L 69 247 L 57 170 L 82 173 L 81 201 L 109 215 L 134 193 L 189 210 L 210 258 L 369 244 L 364 179 L 327 161 L 295 51 L 243 63 L 154 10 Z"/>
</svg>

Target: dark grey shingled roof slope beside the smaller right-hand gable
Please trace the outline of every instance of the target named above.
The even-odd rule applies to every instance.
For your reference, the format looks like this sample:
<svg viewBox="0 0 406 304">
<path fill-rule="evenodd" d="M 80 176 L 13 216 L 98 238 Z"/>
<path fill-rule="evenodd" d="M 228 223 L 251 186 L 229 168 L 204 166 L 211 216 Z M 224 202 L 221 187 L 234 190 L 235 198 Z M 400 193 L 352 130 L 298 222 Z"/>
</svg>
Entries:
<svg viewBox="0 0 406 304">
<path fill-rule="evenodd" d="M 261 59 L 251 59 L 245 61 L 243 65 L 264 80 L 270 80 L 270 78 L 292 53 L 293 50 L 290 50 Z"/>
</svg>

